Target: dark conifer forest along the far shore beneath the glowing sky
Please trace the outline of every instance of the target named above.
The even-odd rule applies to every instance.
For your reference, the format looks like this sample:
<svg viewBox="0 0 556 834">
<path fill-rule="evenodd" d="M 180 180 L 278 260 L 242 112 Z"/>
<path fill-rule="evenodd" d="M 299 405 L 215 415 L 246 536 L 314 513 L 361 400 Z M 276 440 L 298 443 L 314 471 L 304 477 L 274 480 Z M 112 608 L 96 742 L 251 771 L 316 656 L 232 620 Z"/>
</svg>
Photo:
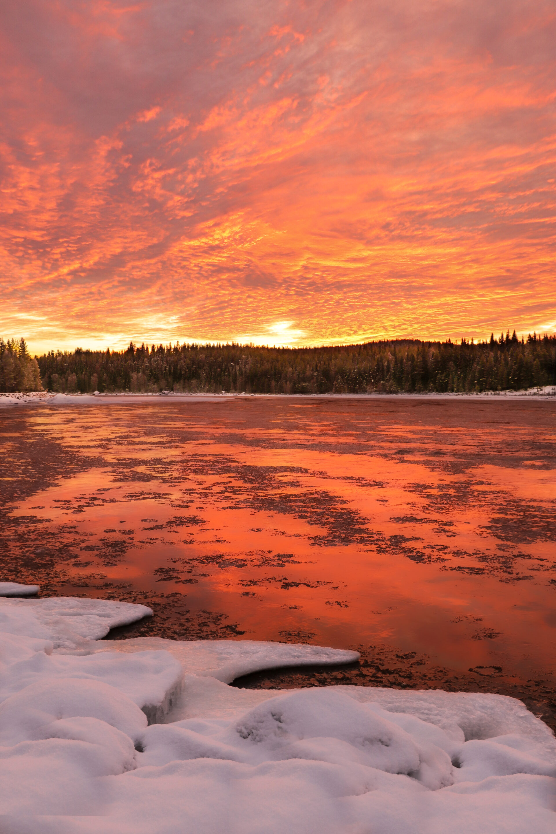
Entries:
<svg viewBox="0 0 556 834">
<path fill-rule="evenodd" d="M 40 371 L 40 376 L 38 374 Z M 556 384 L 556 335 L 515 331 L 455 343 L 418 339 L 343 347 L 129 344 L 122 351 L 50 351 L 0 340 L 0 390 L 246 394 L 481 392 Z"/>
</svg>

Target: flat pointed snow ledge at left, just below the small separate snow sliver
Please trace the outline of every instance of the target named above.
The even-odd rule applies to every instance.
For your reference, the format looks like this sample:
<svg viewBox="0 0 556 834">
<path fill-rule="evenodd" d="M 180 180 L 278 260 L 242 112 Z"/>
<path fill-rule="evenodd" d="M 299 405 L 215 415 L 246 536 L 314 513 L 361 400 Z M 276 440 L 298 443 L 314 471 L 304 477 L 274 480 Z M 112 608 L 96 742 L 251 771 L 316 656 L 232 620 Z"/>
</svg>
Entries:
<svg viewBox="0 0 556 834">
<path fill-rule="evenodd" d="M 50 596 L 43 600 L 3 600 L 0 631 L 53 641 L 54 648 L 74 651 L 98 640 L 117 625 L 128 625 L 153 611 L 146 605 L 110 600 Z"/>
</svg>

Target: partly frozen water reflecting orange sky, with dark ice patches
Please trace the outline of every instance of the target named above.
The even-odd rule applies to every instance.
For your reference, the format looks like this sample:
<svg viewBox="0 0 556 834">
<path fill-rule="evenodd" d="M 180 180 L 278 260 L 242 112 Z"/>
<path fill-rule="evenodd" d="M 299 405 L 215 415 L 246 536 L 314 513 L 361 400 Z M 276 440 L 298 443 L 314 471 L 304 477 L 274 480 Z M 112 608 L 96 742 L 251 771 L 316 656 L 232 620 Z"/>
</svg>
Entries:
<svg viewBox="0 0 556 834">
<path fill-rule="evenodd" d="M 0 579 L 153 607 L 121 636 L 354 648 L 336 681 L 501 691 L 550 723 L 554 405 L 5 409 Z"/>
</svg>

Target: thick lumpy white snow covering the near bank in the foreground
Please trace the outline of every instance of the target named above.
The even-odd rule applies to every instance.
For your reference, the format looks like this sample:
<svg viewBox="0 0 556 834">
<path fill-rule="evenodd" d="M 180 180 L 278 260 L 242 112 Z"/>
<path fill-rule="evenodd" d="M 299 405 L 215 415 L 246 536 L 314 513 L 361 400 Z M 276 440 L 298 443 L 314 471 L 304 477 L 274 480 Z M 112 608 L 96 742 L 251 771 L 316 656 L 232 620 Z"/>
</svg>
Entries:
<svg viewBox="0 0 556 834">
<path fill-rule="evenodd" d="M 148 613 L 107 600 L 0 600 L 5 834 L 556 830 L 556 740 L 520 701 L 242 690 L 228 684 L 248 671 L 357 654 L 97 639 Z"/>
</svg>

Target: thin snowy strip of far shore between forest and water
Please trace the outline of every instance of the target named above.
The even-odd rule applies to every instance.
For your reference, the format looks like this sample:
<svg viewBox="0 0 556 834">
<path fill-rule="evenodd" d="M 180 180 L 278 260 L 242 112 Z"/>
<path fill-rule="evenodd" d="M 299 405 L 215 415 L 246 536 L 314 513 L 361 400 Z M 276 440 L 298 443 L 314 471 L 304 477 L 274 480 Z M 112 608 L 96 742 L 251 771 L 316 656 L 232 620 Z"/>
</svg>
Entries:
<svg viewBox="0 0 556 834">
<path fill-rule="evenodd" d="M 556 399 L 556 385 L 542 388 L 528 388 L 521 391 L 483 391 L 482 394 L 48 394 L 46 391 L 15 392 L 0 394 L 0 409 L 12 405 L 90 405 L 90 404 L 133 404 L 165 400 L 167 402 L 223 402 L 240 397 L 258 399 Z"/>
</svg>

